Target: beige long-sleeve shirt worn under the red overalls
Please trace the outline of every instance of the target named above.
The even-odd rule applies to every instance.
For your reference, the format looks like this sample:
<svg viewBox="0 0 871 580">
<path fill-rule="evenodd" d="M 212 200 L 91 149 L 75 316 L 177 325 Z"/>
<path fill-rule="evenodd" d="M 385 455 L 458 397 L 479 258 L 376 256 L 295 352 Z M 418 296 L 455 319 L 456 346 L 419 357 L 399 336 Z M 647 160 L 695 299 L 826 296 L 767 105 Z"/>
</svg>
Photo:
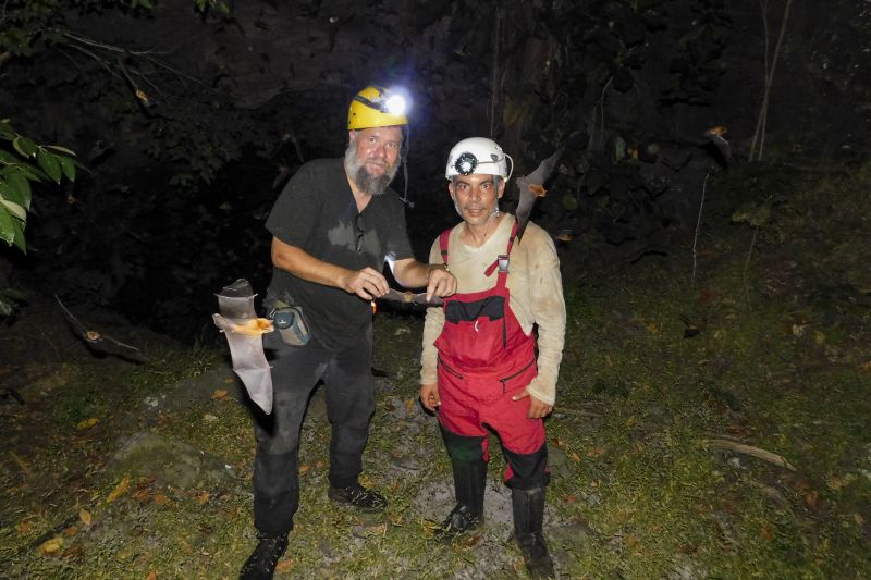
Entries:
<svg viewBox="0 0 871 580">
<path fill-rule="evenodd" d="M 466 294 L 492 288 L 496 284 L 495 272 L 484 275 L 484 270 L 496 256 L 505 252 L 514 226 L 514 217 L 506 214 L 493 235 L 475 248 L 461 242 L 465 222 L 454 227 L 449 240 L 447 263 L 457 280 L 457 293 Z M 506 285 L 511 292 L 510 307 L 526 334 L 538 331 L 538 377 L 527 391 L 541 402 L 553 405 L 556 399 L 556 377 L 563 358 L 565 341 L 565 300 L 560 275 L 560 259 L 550 235 L 529 223 L 518 244 L 511 251 Z M 429 252 L 430 263 L 443 263 L 439 239 Z M 438 349 L 436 338 L 444 325 L 444 310 L 427 309 L 424 324 L 424 351 L 420 357 L 420 383 L 437 382 Z"/>
</svg>

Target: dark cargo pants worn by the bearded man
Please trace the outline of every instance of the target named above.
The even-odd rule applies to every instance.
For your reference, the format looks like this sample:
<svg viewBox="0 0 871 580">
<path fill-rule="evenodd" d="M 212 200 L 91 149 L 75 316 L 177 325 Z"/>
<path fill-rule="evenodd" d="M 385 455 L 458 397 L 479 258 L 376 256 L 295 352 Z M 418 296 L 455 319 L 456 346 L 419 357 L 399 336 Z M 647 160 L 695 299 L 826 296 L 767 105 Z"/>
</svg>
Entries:
<svg viewBox="0 0 871 580">
<path fill-rule="evenodd" d="M 299 507 L 299 431 L 320 380 L 332 424 L 330 484 L 344 488 L 363 471 L 363 449 L 375 412 L 372 329 L 340 353 L 327 350 L 316 340 L 289 346 L 278 332 L 263 335 L 263 347 L 272 365 L 273 404 L 271 415 L 255 417 L 254 525 L 260 532 L 284 533 L 293 529 Z"/>
</svg>

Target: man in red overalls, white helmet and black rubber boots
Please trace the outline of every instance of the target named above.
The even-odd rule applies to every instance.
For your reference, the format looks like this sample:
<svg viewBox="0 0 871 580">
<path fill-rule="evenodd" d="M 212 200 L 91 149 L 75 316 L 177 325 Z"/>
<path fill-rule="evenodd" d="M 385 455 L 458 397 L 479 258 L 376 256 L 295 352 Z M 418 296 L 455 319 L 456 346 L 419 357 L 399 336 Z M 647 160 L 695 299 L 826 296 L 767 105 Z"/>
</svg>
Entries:
<svg viewBox="0 0 871 580">
<path fill-rule="evenodd" d="M 420 399 L 438 409 L 457 501 L 437 536 L 450 541 L 483 518 L 489 428 L 505 454 L 514 532 L 527 569 L 550 578 L 542 419 L 555 399 L 565 301 L 550 235 L 530 223 L 519 240 L 514 217 L 499 210 L 510 159 L 480 137 L 451 150 L 445 176 L 463 222 L 439 236 L 430 263 L 450 269 L 457 292 L 443 310 L 427 313 Z"/>
</svg>

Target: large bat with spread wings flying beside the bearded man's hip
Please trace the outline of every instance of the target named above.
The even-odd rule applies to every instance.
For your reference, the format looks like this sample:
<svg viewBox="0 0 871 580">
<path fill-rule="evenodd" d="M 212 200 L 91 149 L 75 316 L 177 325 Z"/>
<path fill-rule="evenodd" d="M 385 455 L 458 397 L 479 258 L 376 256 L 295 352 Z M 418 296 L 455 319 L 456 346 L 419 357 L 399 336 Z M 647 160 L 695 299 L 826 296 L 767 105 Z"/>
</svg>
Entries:
<svg viewBox="0 0 871 580">
<path fill-rule="evenodd" d="M 263 353 L 262 334 L 272 332 L 272 321 L 258 318 L 254 310 L 254 291 L 247 280 L 238 279 L 218 294 L 220 314 L 212 314 L 230 346 L 235 372 L 250 399 L 263 412 L 272 412 L 272 373 Z"/>
</svg>

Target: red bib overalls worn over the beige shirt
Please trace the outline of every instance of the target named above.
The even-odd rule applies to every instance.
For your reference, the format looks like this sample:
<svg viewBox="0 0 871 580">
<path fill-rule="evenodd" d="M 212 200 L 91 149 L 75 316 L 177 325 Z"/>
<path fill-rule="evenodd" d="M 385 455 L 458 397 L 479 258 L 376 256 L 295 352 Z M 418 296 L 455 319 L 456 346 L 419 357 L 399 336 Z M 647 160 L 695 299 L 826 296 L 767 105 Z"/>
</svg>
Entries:
<svg viewBox="0 0 871 580">
<path fill-rule="evenodd" d="M 447 230 L 439 237 L 445 264 L 450 234 Z M 515 222 L 505 254 L 484 272 L 491 275 L 499 269 L 493 288 L 445 298 L 444 328 L 434 344 L 439 349 L 439 422 L 449 431 L 445 442 L 451 446 L 465 440 L 462 446 L 466 446 L 474 437 L 487 460 L 486 423 L 505 452 L 505 481 L 529 489 L 547 482 L 547 447 L 542 420 L 527 417 L 529 397 L 512 400 L 538 374 L 535 336 L 524 334 L 505 285 L 516 234 Z"/>
</svg>

